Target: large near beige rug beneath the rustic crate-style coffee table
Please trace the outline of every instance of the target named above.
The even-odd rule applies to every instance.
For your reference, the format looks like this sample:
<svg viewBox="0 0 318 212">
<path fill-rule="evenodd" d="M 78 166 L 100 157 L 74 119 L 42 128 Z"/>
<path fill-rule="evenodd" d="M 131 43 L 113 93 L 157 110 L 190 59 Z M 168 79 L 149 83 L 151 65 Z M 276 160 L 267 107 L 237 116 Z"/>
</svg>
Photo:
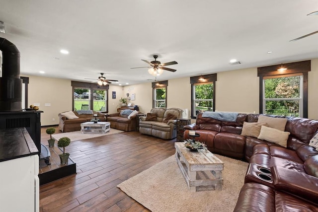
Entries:
<svg viewBox="0 0 318 212">
<path fill-rule="evenodd" d="M 222 191 L 190 192 L 174 155 L 117 187 L 153 212 L 233 212 L 248 163 L 217 156 L 224 162 Z"/>
</svg>

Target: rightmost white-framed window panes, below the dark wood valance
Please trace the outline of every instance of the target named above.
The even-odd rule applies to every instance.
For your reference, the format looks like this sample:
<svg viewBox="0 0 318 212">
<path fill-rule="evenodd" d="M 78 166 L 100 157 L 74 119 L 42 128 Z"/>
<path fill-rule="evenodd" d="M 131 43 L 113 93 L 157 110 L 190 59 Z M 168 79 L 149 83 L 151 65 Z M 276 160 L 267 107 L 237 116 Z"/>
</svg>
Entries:
<svg viewBox="0 0 318 212">
<path fill-rule="evenodd" d="M 303 116 L 303 75 L 263 79 L 263 113 Z"/>
</svg>

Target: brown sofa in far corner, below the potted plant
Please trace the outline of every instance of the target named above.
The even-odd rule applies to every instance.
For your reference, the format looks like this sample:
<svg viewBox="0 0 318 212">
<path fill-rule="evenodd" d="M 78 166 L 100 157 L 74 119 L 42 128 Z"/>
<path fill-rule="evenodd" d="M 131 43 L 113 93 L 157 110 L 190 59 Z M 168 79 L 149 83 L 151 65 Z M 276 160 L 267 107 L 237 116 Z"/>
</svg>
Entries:
<svg viewBox="0 0 318 212">
<path fill-rule="evenodd" d="M 109 114 L 107 122 L 110 122 L 110 128 L 122 131 L 136 130 L 137 110 L 122 110 L 118 113 Z"/>
</svg>

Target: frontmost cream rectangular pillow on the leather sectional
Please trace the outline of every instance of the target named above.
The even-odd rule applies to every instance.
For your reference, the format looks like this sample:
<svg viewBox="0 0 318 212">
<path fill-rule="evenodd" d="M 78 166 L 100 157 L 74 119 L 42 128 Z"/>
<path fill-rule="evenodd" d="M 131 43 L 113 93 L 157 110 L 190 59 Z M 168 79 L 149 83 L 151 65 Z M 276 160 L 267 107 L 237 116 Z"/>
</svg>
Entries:
<svg viewBox="0 0 318 212">
<path fill-rule="evenodd" d="M 262 126 L 257 139 L 266 140 L 287 147 L 287 140 L 289 134 L 289 132 L 283 132 L 274 128 Z"/>
</svg>

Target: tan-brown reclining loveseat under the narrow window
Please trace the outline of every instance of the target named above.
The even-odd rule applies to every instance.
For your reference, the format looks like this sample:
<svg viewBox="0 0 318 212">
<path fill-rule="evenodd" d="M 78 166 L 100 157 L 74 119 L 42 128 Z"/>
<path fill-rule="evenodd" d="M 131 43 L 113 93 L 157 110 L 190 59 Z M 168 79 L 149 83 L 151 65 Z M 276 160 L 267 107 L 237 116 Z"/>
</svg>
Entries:
<svg viewBox="0 0 318 212">
<path fill-rule="evenodd" d="M 146 117 L 140 117 L 139 132 L 161 139 L 177 137 L 176 119 L 182 118 L 179 108 L 153 108 Z"/>
</svg>

